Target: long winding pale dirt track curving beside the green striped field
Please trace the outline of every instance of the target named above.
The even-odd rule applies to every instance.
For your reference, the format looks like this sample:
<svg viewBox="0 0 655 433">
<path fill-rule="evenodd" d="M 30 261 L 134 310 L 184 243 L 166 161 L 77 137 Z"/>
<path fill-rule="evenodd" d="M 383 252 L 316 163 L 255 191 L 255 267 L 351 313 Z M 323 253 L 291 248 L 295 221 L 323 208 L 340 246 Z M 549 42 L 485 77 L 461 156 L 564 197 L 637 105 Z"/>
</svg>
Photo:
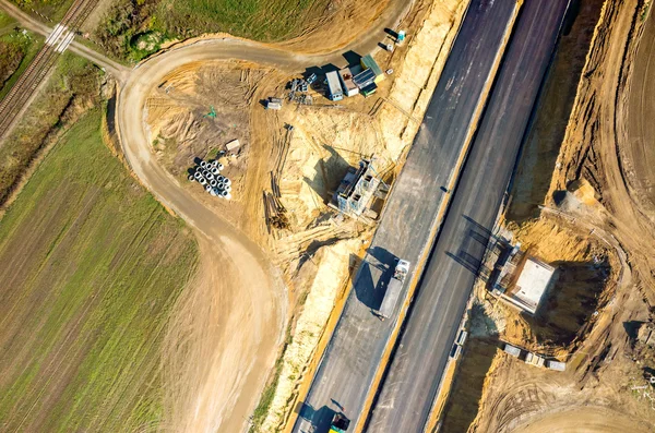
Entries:
<svg viewBox="0 0 655 433">
<path fill-rule="evenodd" d="M 158 164 L 151 152 L 145 123 L 147 96 L 167 74 L 192 62 L 245 60 L 293 72 L 325 63 L 344 64 L 342 52 L 372 51 L 383 37 L 383 29 L 393 28 L 396 17 L 402 16 L 409 5 L 410 2 L 392 0 L 385 13 L 360 33 L 360 40 L 326 55 L 294 53 L 272 45 L 231 37 L 202 39 L 148 59 L 124 79 L 118 97 L 116 124 L 126 158 L 156 199 L 196 230 L 203 254 L 198 284 L 212 285 L 207 293 L 212 299 L 207 299 L 205 305 L 199 305 L 202 300 L 188 304 L 203 311 L 202 323 L 215 329 L 217 336 L 207 337 L 207 329 L 199 333 L 205 347 L 193 353 L 205 357 L 201 362 L 204 372 L 195 374 L 199 380 L 195 385 L 188 385 L 196 386 L 198 394 L 180 396 L 180 392 L 175 390 L 178 396 L 170 398 L 179 398 L 183 404 L 176 401 L 179 412 L 174 413 L 177 419 L 169 428 L 198 432 L 246 429 L 246 420 L 259 400 L 283 336 L 285 293 L 260 246 L 195 201 Z M 193 308 L 187 306 L 189 311 L 184 313 L 195 314 Z M 175 323 L 188 322 L 182 317 L 177 322 L 174 318 L 174 326 Z M 207 348 L 210 344 L 212 347 Z M 178 377 L 178 382 L 182 385 L 183 380 Z"/>
</svg>

